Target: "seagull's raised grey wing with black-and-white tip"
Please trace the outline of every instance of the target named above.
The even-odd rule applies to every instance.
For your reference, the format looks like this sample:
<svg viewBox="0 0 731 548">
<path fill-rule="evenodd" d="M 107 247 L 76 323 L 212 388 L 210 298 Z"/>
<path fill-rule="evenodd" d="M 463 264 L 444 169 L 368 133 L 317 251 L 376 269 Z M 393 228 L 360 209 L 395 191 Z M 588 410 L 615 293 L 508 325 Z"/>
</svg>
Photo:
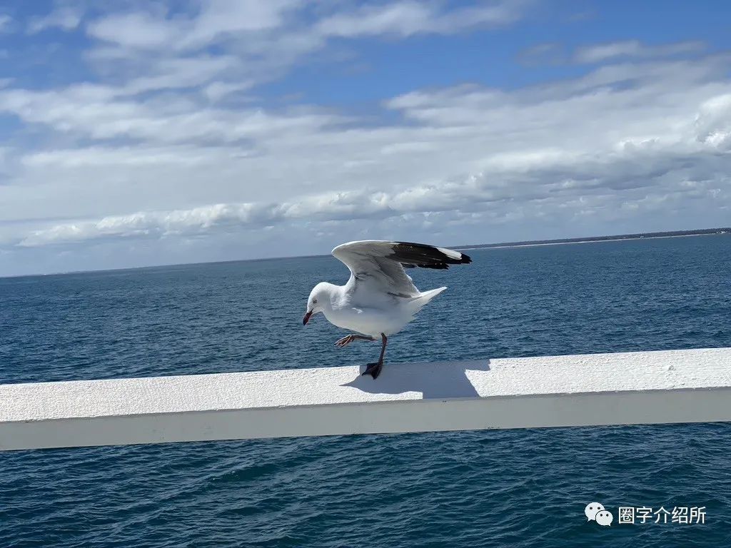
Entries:
<svg viewBox="0 0 731 548">
<path fill-rule="evenodd" d="M 469 256 L 451 249 L 423 243 L 362 240 L 348 242 L 333 249 L 333 256 L 344 263 L 355 282 L 381 286 L 380 289 L 400 297 L 419 294 L 404 267 L 449 268 L 472 262 Z"/>
</svg>

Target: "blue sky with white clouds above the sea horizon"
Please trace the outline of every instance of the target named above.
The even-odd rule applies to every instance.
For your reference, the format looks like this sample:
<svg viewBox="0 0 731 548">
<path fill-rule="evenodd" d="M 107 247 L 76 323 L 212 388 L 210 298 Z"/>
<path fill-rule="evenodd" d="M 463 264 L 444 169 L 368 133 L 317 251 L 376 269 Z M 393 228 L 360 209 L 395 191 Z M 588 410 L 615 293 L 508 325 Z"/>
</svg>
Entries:
<svg viewBox="0 0 731 548">
<path fill-rule="evenodd" d="M 0 4 L 0 275 L 731 224 L 726 1 Z"/>
</svg>

